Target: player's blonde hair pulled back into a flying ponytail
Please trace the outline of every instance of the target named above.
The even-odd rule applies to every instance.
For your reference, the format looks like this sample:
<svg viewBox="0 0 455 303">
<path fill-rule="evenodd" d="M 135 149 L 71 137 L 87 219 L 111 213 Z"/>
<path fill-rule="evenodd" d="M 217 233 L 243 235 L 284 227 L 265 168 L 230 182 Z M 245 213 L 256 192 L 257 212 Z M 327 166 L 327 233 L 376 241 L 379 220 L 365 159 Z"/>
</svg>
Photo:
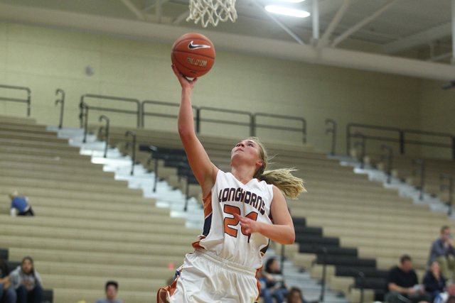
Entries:
<svg viewBox="0 0 455 303">
<path fill-rule="evenodd" d="M 256 137 L 247 138 L 247 140 L 255 141 L 259 146 L 259 158 L 262 160 L 262 166 L 253 175 L 257 180 L 265 181 L 267 184 L 273 184 L 283 192 L 286 197 L 297 199 L 301 192 L 306 192 L 304 180 L 299 177 L 294 177 L 291 172 L 296 171 L 294 168 L 280 168 L 278 170 L 265 170 L 269 164 L 269 156 L 267 149 L 259 142 Z"/>
</svg>

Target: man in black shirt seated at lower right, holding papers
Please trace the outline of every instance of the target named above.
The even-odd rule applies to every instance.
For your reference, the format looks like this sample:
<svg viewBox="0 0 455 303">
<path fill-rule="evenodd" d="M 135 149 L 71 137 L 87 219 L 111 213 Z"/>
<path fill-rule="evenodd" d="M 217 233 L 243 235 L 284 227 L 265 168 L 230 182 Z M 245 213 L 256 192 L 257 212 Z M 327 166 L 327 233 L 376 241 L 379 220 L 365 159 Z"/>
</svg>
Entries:
<svg viewBox="0 0 455 303">
<path fill-rule="evenodd" d="M 395 266 L 387 275 L 385 301 L 389 303 L 402 303 L 403 298 L 412 303 L 421 301 L 429 302 L 431 296 L 421 285 L 418 285 L 417 275 L 412 270 L 412 260 L 409 255 L 400 258 L 400 265 Z"/>
</svg>

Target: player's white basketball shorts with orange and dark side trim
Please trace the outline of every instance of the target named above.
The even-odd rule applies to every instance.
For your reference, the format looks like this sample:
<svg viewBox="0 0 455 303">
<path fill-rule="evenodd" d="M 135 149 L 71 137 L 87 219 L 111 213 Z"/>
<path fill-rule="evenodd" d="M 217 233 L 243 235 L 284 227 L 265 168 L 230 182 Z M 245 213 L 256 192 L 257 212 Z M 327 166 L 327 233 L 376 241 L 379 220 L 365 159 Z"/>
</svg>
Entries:
<svg viewBox="0 0 455 303">
<path fill-rule="evenodd" d="M 259 299 L 257 270 L 205 249 L 188 253 L 178 272 L 172 285 L 159 290 L 158 303 L 254 303 Z"/>
</svg>

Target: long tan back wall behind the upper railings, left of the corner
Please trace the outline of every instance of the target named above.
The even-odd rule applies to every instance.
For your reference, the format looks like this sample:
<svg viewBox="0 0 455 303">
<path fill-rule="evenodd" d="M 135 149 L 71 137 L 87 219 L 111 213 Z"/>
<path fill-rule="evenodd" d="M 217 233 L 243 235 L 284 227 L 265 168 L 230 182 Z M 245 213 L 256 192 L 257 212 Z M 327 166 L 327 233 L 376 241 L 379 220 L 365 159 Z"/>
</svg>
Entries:
<svg viewBox="0 0 455 303">
<path fill-rule="evenodd" d="M 78 104 L 85 93 L 177 103 L 180 92 L 170 68 L 170 50 L 171 45 L 150 41 L 0 23 L 0 83 L 30 87 L 32 116 L 48 124 L 58 123 L 55 89 L 64 89 L 64 125 L 78 126 Z M 92 76 L 85 75 L 89 65 L 95 70 Z M 330 148 L 324 121 L 335 119 L 338 153 L 345 150 L 349 121 L 418 128 L 418 101 L 419 80 L 410 77 L 223 51 L 218 51 L 213 70 L 199 79 L 193 93 L 196 106 L 304 116 L 309 143 L 324 151 Z M 0 103 L 1 114 L 25 112 L 23 104 Z M 92 112 L 90 121 L 97 121 L 99 114 Z M 113 124 L 135 125 L 132 116 L 108 116 Z M 148 118 L 146 127 L 175 129 L 176 121 Z M 203 124 L 203 133 L 248 134 L 247 128 L 208 123 Z M 274 131 L 259 130 L 257 135 L 300 140 L 296 134 Z"/>
</svg>

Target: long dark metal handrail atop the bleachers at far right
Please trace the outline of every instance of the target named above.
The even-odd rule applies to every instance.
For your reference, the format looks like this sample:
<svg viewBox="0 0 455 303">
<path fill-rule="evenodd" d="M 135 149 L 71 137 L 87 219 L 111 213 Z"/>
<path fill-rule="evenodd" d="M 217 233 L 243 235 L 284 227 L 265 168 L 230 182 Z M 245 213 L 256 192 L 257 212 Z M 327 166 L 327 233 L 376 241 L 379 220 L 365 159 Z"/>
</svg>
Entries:
<svg viewBox="0 0 455 303">
<path fill-rule="evenodd" d="M 368 129 L 374 129 L 374 130 L 378 130 L 378 131 L 396 132 L 397 138 L 382 137 L 382 136 L 368 136 L 368 135 L 365 135 L 365 136 L 369 140 L 398 143 L 400 145 L 400 153 L 402 155 L 405 154 L 405 144 L 414 144 L 414 145 L 432 146 L 432 147 L 437 147 L 437 148 L 451 148 L 452 158 L 455 159 L 455 136 L 452 135 L 451 133 L 439 133 L 439 132 L 434 132 L 434 131 L 420 131 L 420 130 L 416 130 L 416 129 L 401 129 L 401 128 L 396 128 L 396 127 L 374 126 L 374 125 L 360 124 L 360 123 L 348 123 L 348 125 L 346 126 L 347 154 L 349 154 L 349 150 L 350 150 L 350 138 L 353 136 L 353 133 L 351 132 L 351 128 L 353 128 L 353 127 L 368 128 Z M 405 138 L 407 134 L 449 138 L 451 143 L 447 144 L 447 143 L 436 143 L 436 142 L 430 142 L 430 141 L 407 140 Z"/>
</svg>

